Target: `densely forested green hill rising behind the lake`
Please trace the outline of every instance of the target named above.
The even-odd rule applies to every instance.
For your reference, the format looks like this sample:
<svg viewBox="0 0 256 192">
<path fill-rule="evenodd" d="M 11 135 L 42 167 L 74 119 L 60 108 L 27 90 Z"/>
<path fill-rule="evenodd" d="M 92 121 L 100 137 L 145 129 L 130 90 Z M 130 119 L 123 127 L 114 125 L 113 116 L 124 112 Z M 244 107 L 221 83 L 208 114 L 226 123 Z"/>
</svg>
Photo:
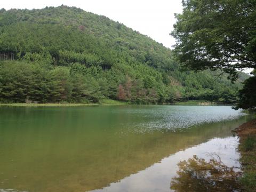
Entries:
<svg viewBox="0 0 256 192">
<path fill-rule="evenodd" d="M 0 10 L 1 102 L 234 102 L 241 82 L 181 71 L 172 51 L 76 7 Z"/>
</svg>

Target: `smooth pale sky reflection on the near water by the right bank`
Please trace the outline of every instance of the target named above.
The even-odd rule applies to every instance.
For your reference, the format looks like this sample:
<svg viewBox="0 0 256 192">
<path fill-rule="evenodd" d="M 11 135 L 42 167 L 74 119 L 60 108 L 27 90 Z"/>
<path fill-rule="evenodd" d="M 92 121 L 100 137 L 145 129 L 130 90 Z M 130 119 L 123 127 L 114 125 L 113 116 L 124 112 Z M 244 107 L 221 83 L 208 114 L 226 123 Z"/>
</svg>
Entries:
<svg viewBox="0 0 256 192">
<path fill-rule="evenodd" d="M 178 171 L 177 163 L 193 155 L 204 158 L 206 161 L 213 157 L 216 159 L 220 157 L 223 164 L 229 167 L 240 167 L 237 161 L 239 158 L 239 153 L 236 151 L 237 145 L 237 137 L 215 138 L 163 158 L 161 162 L 111 183 L 109 187 L 93 191 L 171 191 L 170 182 Z"/>
</svg>

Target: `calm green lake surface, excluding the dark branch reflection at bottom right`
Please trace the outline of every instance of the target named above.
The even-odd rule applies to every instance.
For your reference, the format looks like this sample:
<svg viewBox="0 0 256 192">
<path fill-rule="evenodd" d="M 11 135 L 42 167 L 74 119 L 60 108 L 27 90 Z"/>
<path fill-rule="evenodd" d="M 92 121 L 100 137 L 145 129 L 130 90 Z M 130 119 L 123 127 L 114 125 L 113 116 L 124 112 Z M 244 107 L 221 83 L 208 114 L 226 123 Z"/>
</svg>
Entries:
<svg viewBox="0 0 256 192">
<path fill-rule="evenodd" d="M 182 160 L 239 167 L 230 106 L 0 107 L 0 191 L 171 191 Z"/>
</svg>

